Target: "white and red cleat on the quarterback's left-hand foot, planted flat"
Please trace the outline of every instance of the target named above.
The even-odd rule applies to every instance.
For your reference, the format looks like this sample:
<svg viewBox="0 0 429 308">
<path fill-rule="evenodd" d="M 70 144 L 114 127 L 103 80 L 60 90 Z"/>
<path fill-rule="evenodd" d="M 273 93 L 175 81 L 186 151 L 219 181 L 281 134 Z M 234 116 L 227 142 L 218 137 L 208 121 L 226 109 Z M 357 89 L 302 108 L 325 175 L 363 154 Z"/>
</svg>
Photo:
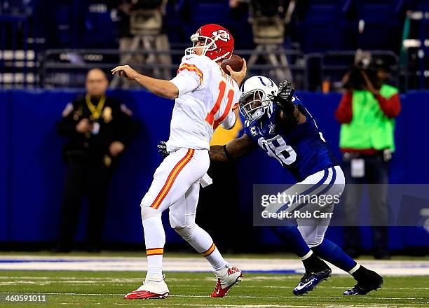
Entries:
<svg viewBox="0 0 429 308">
<path fill-rule="evenodd" d="M 165 298 L 170 291 L 164 281 L 165 275 L 146 275 L 144 283 L 137 290 L 128 293 L 123 298 L 126 300 L 149 300 L 155 298 Z"/>
</svg>

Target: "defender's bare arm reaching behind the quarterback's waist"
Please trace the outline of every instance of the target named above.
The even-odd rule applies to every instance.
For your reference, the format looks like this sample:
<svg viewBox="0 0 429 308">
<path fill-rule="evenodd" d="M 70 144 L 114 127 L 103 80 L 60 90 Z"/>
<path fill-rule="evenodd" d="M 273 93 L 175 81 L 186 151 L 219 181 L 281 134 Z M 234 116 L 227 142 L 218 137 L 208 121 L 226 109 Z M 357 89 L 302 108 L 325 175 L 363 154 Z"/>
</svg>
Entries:
<svg viewBox="0 0 429 308">
<path fill-rule="evenodd" d="M 210 160 L 212 162 L 228 162 L 236 160 L 252 152 L 256 144 L 247 134 L 242 137 L 229 141 L 225 146 L 210 146 Z"/>
</svg>

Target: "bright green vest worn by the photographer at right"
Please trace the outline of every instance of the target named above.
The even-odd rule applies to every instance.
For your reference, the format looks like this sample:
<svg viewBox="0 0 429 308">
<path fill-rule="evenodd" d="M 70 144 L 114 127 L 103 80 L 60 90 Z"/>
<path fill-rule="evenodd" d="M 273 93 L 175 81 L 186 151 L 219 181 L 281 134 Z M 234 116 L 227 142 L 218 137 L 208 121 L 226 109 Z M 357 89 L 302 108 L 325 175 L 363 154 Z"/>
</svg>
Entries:
<svg viewBox="0 0 429 308">
<path fill-rule="evenodd" d="M 396 87 L 382 85 L 380 94 L 387 99 L 397 94 Z M 353 90 L 353 118 L 350 123 L 342 124 L 340 148 L 395 151 L 395 119 L 386 116 L 374 95 L 367 90 Z"/>
</svg>

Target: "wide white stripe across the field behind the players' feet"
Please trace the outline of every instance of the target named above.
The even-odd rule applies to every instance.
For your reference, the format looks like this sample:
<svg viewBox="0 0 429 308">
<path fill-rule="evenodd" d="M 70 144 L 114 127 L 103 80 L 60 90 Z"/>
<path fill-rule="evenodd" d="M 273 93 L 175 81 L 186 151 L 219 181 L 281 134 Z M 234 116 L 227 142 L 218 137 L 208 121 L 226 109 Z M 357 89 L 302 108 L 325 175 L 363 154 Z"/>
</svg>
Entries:
<svg viewBox="0 0 429 308">
<path fill-rule="evenodd" d="M 231 258 L 245 272 L 273 274 L 301 274 L 304 272 L 299 260 Z M 165 257 L 165 272 L 209 272 L 210 266 L 198 258 Z M 429 260 L 362 260 L 362 265 L 387 275 L 429 275 Z M 142 257 L 89 257 L 89 256 L 43 256 L 43 255 L 0 255 L 0 269 L 4 270 L 64 270 L 64 271 L 132 271 L 140 272 L 147 266 Z M 343 274 L 333 269 L 333 274 Z"/>
</svg>

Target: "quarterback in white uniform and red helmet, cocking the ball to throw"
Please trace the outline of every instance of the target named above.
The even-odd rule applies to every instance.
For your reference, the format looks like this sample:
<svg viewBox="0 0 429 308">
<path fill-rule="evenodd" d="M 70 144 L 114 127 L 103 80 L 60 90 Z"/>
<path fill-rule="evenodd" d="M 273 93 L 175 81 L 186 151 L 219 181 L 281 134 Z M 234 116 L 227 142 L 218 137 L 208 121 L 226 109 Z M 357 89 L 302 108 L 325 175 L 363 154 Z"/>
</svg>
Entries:
<svg viewBox="0 0 429 308">
<path fill-rule="evenodd" d="M 166 209 L 170 209 L 172 228 L 212 265 L 217 276 L 212 297 L 224 297 L 243 276 L 240 269 L 222 258 L 195 218 L 200 179 L 210 165 L 210 139 L 219 125 L 231 129 L 236 123 L 233 106 L 238 104 L 238 84 L 245 76 L 246 66 L 244 63 L 239 72 L 229 68 L 231 76 L 221 69 L 222 59 L 231 57 L 234 46 L 233 37 L 224 27 L 204 25 L 191 36 L 191 41 L 193 47 L 186 49 L 172 80 L 141 75 L 128 65 L 112 69 L 112 73 L 136 80 L 158 96 L 176 99 L 167 142 L 170 155 L 156 169 L 141 203 L 147 276 L 142 286 L 125 295 L 126 299 L 163 298 L 169 294 L 162 273 L 165 232 L 161 214 Z"/>
</svg>

